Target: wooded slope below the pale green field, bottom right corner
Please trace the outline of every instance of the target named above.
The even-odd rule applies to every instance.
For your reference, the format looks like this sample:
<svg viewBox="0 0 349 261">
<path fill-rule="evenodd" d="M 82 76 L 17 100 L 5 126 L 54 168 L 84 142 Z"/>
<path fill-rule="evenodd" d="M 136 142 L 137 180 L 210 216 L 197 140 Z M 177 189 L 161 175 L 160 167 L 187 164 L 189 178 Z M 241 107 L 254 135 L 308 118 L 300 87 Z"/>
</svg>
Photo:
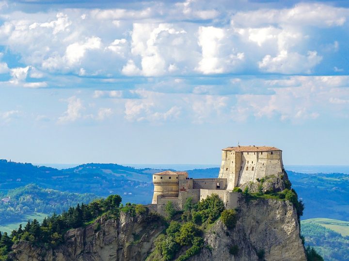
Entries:
<svg viewBox="0 0 349 261">
<path fill-rule="evenodd" d="M 323 256 L 327 261 L 349 260 L 349 236 L 342 236 L 338 232 L 312 223 L 301 223 L 301 234 L 308 245 L 308 261 L 322 260 L 318 259 L 317 255 Z"/>
</svg>

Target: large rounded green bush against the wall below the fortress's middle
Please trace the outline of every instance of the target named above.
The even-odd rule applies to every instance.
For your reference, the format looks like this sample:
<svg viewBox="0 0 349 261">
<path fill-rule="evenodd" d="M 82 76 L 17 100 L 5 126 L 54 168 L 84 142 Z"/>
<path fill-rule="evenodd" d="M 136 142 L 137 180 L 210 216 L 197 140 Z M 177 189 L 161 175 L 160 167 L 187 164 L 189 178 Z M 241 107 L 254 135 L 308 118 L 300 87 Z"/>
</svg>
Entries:
<svg viewBox="0 0 349 261">
<path fill-rule="evenodd" d="M 220 217 L 223 210 L 224 203 L 220 197 L 217 194 L 212 194 L 197 204 L 196 211 L 200 214 L 203 223 L 206 222 L 206 220 L 208 223 L 213 223 L 218 217 Z M 194 217 L 194 214 L 193 220 L 198 220 L 198 217 Z"/>
</svg>

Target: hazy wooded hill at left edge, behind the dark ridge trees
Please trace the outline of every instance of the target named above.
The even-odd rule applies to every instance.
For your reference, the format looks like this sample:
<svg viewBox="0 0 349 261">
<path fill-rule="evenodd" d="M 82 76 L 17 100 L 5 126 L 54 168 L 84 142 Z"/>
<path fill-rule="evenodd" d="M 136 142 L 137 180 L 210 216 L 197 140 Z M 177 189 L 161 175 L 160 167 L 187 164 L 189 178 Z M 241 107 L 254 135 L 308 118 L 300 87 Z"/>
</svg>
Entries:
<svg viewBox="0 0 349 261">
<path fill-rule="evenodd" d="M 46 214 L 61 213 L 78 203 L 89 203 L 97 198 L 94 194 L 62 192 L 40 188 L 30 184 L 9 190 L 1 198 L 8 202 L 0 203 L 0 224 L 21 221 L 32 212 Z"/>
</svg>

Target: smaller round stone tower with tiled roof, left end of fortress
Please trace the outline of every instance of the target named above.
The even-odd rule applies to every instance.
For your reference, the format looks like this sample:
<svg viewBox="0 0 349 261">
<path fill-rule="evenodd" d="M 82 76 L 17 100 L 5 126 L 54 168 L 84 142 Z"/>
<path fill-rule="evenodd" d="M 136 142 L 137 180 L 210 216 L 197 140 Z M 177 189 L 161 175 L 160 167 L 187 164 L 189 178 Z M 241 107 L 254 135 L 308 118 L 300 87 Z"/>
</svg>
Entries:
<svg viewBox="0 0 349 261">
<path fill-rule="evenodd" d="M 163 171 L 153 174 L 154 195 L 152 204 L 158 203 L 158 195 L 165 198 L 178 198 L 179 180 L 187 179 L 184 171 Z"/>
</svg>

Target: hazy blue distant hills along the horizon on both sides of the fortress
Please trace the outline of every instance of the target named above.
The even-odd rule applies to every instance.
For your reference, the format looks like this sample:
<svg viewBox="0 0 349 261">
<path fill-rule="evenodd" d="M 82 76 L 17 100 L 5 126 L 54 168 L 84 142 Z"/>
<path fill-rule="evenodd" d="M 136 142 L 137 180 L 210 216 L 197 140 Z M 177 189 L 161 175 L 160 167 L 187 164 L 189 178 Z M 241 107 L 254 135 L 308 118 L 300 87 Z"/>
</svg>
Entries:
<svg viewBox="0 0 349 261">
<path fill-rule="evenodd" d="M 99 163 L 58 170 L 0 160 L 0 194 L 34 183 L 42 188 L 93 193 L 103 197 L 117 193 L 123 197 L 124 203 L 150 203 L 153 194 L 152 174 L 159 171 Z M 217 177 L 219 168 L 195 169 L 188 173 L 193 178 Z M 348 174 L 287 173 L 293 188 L 305 203 L 302 219 L 326 217 L 349 221 Z"/>
</svg>

